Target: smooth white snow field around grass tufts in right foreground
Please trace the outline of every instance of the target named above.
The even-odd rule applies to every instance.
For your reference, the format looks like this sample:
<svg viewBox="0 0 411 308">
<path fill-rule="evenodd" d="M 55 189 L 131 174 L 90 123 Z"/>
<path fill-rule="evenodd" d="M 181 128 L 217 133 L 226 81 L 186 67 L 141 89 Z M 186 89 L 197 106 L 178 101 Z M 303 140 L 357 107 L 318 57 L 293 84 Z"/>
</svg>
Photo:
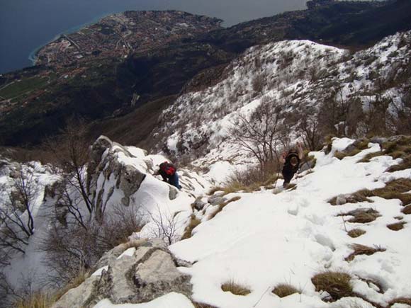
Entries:
<svg viewBox="0 0 411 308">
<path fill-rule="evenodd" d="M 394 298 L 410 297 L 411 246 L 407 243 L 411 239 L 411 217 L 402 214 L 400 200 L 375 197 L 371 198 L 373 203 L 337 206 L 327 200 L 364 188 L 382 188 L 395 178 L 411 178 L 411 169 L 385 172 L 400 161 L 391 156 L 358 162 L 366 154 L 378 152 L 378 144 L 368 144 L 368 149 L 341 161 L 333 156 L 337 149 L 352 142 L 334 139 L 330 154 L 313 152 L 317 165 L 313 173 L 291 182 L 296 184 L 295 190 L 276 195 L 272 190 L 227 195 L 241 199 L 228 204 L 213 219 L 203 219 L 190 239 L 171 245 L 177 258 L 193 263 L 191 268 L 180 268 L 192 275 L 193 300 L 221 308 L 372 307 L 359 298 L 323 302 L 325 294 L 315 292 L 311 278 L 326 270 L 348 273 L 354 292 L 384 307 Z M 338 216 L 368 208 L 377 210 L 381 217 L 358 224 L 347 222 L 350 217 Z M 392 231 L 386 225 L 398 222 L 394 217 L 408 224 Z M 347 235 L 347 231 L 358 227 L 366 234 L 356 239 Z M 354 243 L 386 251 L 345 261 Z M 383 293 L 365 280 L 381 285 Z M 247 287 L 251 293 L 240 296 L 224 292 L 221 285 L 230 281 Z M 281 283 L 293 285 L 300 294 L 283 298 L 274 295 L 271 290 Z"/>
</svg>

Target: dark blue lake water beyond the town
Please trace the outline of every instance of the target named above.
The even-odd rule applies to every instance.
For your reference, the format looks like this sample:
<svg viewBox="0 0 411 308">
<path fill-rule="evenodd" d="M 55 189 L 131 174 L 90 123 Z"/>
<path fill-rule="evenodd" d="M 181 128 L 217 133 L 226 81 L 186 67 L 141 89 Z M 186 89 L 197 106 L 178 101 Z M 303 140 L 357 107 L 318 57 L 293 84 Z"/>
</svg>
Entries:
<svg viewBox="0 0 411 308">
<path fill-rule="evenodd" d="M 110 13 L 181 10 L 229 26 L 305 8 L 306 0 L 0 0 L 0 73 L 31 65 L 30 54 L 57 35 Z"/>
</svg>

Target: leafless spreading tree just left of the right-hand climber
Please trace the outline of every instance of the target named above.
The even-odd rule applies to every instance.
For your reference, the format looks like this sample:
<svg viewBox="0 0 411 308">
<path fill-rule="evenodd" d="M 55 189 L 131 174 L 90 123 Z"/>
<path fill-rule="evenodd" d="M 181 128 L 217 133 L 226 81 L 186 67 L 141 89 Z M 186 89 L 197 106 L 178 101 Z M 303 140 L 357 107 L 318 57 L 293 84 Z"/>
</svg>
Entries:
<svg viewBox="0 0 411 308">
<path fill-rule="evenodd" d="M 259 161 L 261 171 L 277 159 L 278 127 L 283 105 L 265 99 L 247 118 L 240 115 L 230 129 L 232 143 L 245 149 Z"/>
</svg>

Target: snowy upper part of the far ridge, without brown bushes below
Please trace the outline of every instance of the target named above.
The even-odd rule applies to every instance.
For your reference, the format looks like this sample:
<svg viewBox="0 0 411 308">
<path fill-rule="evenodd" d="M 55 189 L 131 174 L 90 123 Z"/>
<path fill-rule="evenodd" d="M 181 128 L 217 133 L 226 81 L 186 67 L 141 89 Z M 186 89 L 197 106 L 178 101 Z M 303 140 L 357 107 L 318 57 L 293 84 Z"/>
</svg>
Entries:
<svg viewBox="0 0 411 308">
<path fill-rule="evenodd" d="M 196 166 L 221 159 L 244 162 L 248 161 L 244 153 L 230 144 L 230 127 L 238 125 L 238 115 L 249 117 L 264 101 L 295 115 L 288 116 L 291 139 L 298 135 L 295 127 L 304 115 L 317 122 L 320 106 L 327 100 L 347 105 L 355 98 L 366 112 L 374 101 L 385 98 L 391 101 L 388 110 L 395 113 L 409 99 L 410 76 L 405 72 L 409 72 L 410 45 L 411 32 L 355 53 L 308 40 L 252 47 L 225 69 L 223 81 L 186 93 L 164 110 L 164 125 L 154 137 L 165 135 L 159 144 L 167 144 L 174 154 L 186 154 L 191 160 L 200 157 L 193 163 Z M 355 104 L 350 108 L 347 113 Z M 366 133 L 361 125 L 349 125 L 344 130 L 350 129 L 351 135 Z"/>
</svg>

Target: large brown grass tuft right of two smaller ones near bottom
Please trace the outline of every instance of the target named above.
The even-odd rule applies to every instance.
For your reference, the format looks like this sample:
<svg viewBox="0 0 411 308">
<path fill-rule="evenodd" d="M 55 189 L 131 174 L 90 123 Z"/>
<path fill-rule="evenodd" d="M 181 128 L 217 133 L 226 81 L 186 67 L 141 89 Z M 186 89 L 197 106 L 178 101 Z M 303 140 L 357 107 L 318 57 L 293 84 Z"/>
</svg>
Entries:
<svg viewBox="0 0 411 308">
<path fill-rule="evenodd" d="M 327 271 L 320 273 L 311 278 L 315 290 L 325 291 L 330 294 L 332 300 L 339 300 L 342 297 L 353 295 L 350 283 L 351 276 L 347 273 Z"/>
</svg>

